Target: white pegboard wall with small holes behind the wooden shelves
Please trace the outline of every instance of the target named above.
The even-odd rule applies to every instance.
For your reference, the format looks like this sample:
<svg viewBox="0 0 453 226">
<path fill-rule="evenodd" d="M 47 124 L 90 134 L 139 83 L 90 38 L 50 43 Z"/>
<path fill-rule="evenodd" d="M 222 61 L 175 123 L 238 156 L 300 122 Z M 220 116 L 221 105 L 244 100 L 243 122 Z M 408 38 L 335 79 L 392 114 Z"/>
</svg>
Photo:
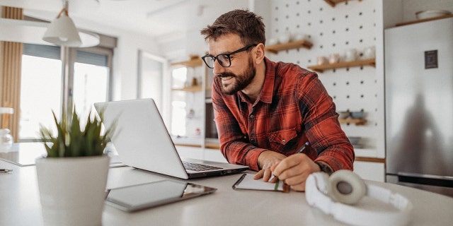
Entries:
<svg viewBox="0 0 453 226">
<path fill-rule="evenodd" d="M 285 32 L 306 35 L 313 43 L 311 49 L 290 49 L 278 54 L 267 53 L 273 61 L 285 61 L 307 66 L 316 65 L 317 57 L 331 54 L 344 55 L 349 49 L 362 53 L 367 47 L 376 46 L 376 5 L 379 1 L 345 1 L 331 7 L 322 0 L 272 0 L 271 24 L 267 25 L 269 37 L 279 37 Z M 384 150 L 384 114 L 379 106 L 383 98 L 383 76 L 377 75 L 372 66 L 358 66 L 326 70 L 318 73 L 319 79 L 336 102 L 338 111 L 366 113 L 367 124 L 342 124 L 348 136 L 361 136 L 369 157 L 382 156 Z"/>
</svg>

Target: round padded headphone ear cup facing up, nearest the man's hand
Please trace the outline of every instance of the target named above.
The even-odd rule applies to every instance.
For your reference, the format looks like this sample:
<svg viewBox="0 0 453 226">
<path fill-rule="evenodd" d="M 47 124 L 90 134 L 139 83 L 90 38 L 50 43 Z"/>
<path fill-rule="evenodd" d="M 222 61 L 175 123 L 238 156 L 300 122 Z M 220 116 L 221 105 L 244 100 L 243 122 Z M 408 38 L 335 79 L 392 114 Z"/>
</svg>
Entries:
<svg viewBox="0 0 453 226">
<path fill-rule="evenodd" d="M 367 193 L 365 182 L 350 170 L 338 170 L 328 179 L 331 197 L 340 203 L 355 204 Z"/>
</svg>

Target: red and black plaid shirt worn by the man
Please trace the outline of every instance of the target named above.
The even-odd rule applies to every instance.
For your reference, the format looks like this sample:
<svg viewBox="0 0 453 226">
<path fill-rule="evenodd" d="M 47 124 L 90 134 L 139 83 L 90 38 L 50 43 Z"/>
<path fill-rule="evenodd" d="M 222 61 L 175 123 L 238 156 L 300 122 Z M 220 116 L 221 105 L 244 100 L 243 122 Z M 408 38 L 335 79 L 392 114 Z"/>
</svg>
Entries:
<svg viewBox="0 0 453 226">
<path fill-rule="evenodd" d="M 334 171 L 352 170 L 354 150 L 316 73 L 267 58 L 265 64 L 256 104 L 241 91 L 223 95 L 214 79 L 214 121 L 226 160 L 258 170 L 258 155 L 264 150 L 292 155 L 309 141 L 303 153 L 311 160 L 326 162 Z"/>
</svg>

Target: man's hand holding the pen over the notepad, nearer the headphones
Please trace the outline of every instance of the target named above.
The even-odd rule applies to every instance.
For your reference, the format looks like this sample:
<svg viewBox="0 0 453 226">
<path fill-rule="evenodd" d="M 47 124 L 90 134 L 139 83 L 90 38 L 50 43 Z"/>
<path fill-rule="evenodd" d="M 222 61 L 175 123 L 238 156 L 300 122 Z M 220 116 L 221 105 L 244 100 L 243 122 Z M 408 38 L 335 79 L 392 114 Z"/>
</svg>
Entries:
<svg viewBox="0 0 453 226">
<path fill-rule="evenodd" d="M 294 191 L 305 191 L 305 181 L 309 174 L 321 171 L 319 165 L 303 153 L 286 157 L 270 167 L 270 170 Z"/>
</svg>

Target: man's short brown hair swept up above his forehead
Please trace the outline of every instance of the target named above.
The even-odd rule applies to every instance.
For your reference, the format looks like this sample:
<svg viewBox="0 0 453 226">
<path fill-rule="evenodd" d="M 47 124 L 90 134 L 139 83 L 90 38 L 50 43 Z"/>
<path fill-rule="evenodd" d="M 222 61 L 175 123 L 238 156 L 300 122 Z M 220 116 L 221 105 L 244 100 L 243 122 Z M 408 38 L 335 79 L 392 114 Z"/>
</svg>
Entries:
<svg viewBox="0 0 453 226">
<path fill-rule="evenodd" d="M 222 14 L 212 25 L 201 30 L 205 41 L 216 40 L 226 34 L 236 34 L 241 37 L 243 44 L 258 44 L 266 42 L 263 17 L 248 10 L 236 9 Z"/>
</svg>

